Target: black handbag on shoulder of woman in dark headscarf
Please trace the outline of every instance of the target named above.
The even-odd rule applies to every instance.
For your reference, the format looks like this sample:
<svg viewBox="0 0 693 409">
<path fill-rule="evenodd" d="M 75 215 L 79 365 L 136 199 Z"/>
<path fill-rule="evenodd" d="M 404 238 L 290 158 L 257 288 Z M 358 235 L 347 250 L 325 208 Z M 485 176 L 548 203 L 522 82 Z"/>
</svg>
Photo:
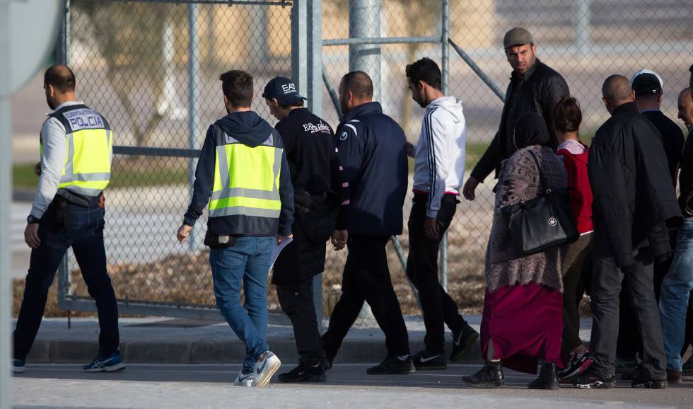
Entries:
<svg viewBox="0 0 693 409">
<path fill-rule="evenodd" d="M 501 209 L 501 214 L 508 221 L 511 241 L 523 255 L 574 243 L 580 237 L 573 221 L 568 189 L 547 188 L 537 156 L 532 151 L 530 154 L 537 163 L 544 192 L 532 200 L 523 200 Z"/>
</svg>

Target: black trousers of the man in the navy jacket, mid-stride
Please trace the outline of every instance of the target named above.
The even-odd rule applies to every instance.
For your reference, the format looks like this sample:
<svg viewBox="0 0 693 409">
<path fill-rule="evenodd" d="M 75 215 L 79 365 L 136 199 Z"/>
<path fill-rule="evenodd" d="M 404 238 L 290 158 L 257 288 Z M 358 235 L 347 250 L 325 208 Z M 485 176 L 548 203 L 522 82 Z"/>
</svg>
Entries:
<svg viewBox="0 0 693 409">
<path fill-rule="evenodd" d="M 375 321 L 385 333 L 388 356 L 409 355 L 409 335 L 404 325 L 400 301 L 390 281 L 385 245 L 390 236 L 349 236 L 347 265 L 342 277 L 342 296 L 334 306 L 330 326 L 323 335 L 323 348 L 328 359 L 337 355 L 342 340 L 368 302 Z"/>
</svg>

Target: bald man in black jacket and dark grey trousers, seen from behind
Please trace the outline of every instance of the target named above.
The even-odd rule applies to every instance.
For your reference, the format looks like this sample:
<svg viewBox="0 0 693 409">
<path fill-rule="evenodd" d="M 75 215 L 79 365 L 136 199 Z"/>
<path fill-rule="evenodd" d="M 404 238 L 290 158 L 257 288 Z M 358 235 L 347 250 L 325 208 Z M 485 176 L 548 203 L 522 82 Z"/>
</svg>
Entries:
<svg viewBox="0 0 693 409">
<path fill-rule="evenodd" d="M 615 355 L 619 292 L 629 275 L 643 357 L 631 386 L 665 388 L 662 328 L 653 291 L 648 237 L 661 224 L 675 227 L 681 212 L 657 129 L 638 113 L 627 78 L 610 76 L 602 86 L 611 118 L 595 134 L 588 159 L 595 246 L 592 277 L 593 363 L 573 379 L 580 388 L 616 385 Z"/>
</svg>

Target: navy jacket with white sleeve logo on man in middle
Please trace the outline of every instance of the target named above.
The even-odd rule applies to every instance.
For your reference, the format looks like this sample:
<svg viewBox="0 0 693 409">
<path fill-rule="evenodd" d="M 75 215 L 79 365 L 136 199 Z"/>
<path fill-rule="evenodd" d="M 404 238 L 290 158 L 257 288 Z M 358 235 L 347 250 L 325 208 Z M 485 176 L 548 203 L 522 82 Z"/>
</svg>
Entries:
<svg viewBox="0 0 693 409">
<path fill-rule="evenodd" d="M 349 183 L 349 206 L 339 210 L 337 229 L 349 234 L 402 234 L 407 195 L 407 139 L 395 120 L 370 102 L 344 115 L 336 132 L 339 161 Z"/>
</svg>

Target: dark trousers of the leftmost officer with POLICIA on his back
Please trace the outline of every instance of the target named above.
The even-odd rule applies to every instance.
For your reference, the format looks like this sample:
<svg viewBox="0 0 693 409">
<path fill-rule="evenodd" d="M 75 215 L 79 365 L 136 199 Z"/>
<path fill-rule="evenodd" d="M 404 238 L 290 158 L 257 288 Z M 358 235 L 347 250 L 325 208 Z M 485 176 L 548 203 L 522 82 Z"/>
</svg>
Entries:
<svg viewBox="0 0 693 409">
<path fill-rule="evenodd" d="M 99 354 L 111 355 L 120 345 L 118 307 L 106 272 L 103 246 L 103 210 L 68 205 L 70 226 L 57 230 L 54 208 L 49 207 L 39 224 L 41 244 L 31 250 L 24 298 L 14 330 L 14 357 L 25 359 L 31 350 L 46 308 L 48 289 L 63 256 L 72 247 L 89 295 L 96 301 L 99 321 Z"/>
</svg>

